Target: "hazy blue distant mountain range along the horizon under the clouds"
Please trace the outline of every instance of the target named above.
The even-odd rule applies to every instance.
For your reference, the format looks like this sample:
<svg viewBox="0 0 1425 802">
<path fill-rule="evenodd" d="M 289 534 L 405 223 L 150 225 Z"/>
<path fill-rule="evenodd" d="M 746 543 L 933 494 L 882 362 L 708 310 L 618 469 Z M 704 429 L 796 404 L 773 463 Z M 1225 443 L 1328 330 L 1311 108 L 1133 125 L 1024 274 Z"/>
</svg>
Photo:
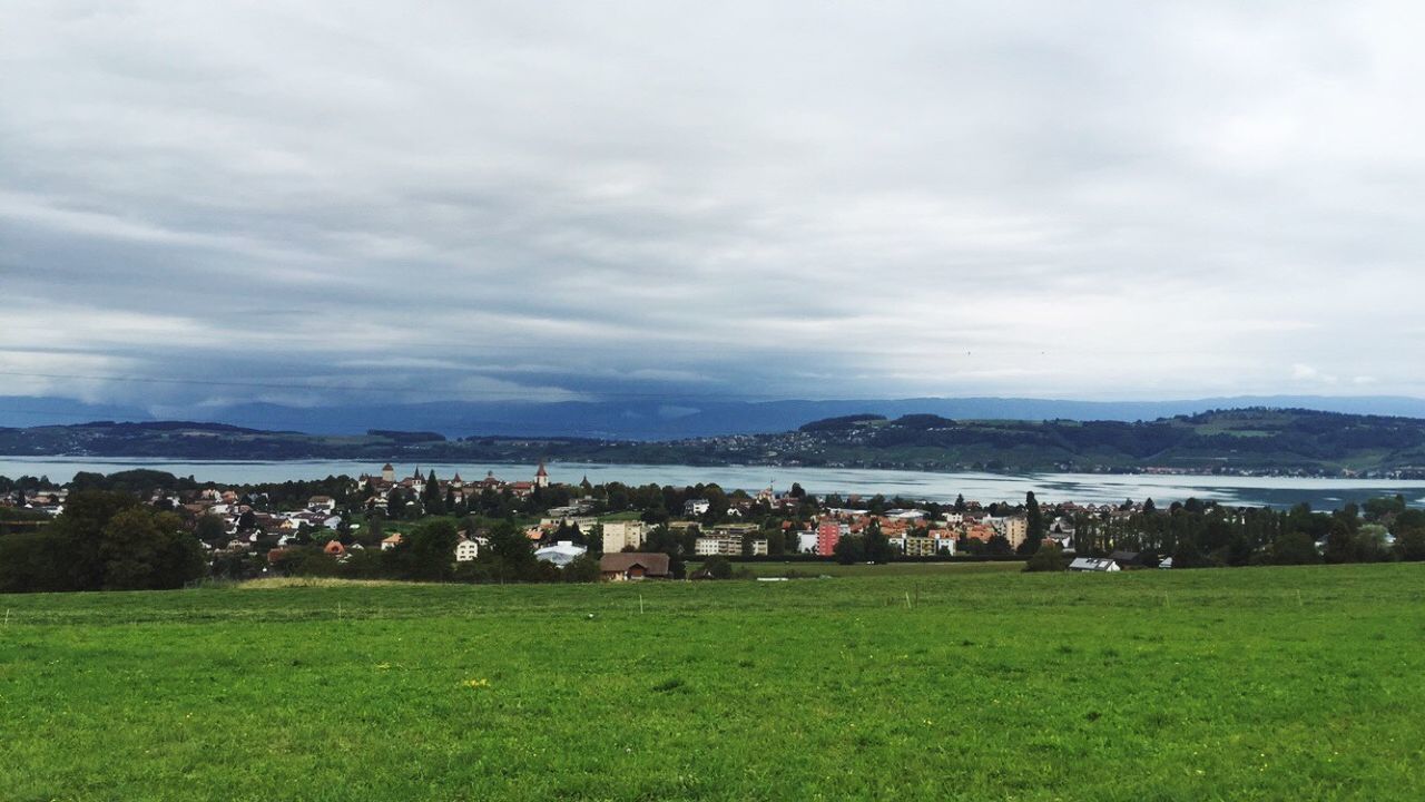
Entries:
<svg viewBox="0 0 1425 802">
<path fill-rule="evenodd" d="M 449 438 L 470 435 L 587 437 L 616 440 L 677 440 L 732 434 L 771 434 L 807 421 L 869 412 L 898 418 L 932 414 L 952 420 L 1003 421 L 1151 421 L 1210 410 L 1243 407 L 1300 408 L 1358 415 L 1425 418 L 1425 400 L 1405 397 L 1331 398 L 1321 395 L 1264 395 L 1183 401 L 1054 401 L 1040 398 L 893 398 L 839 401 L 566 401 L 430 402 L 336 407 L 241 404 L 185 408 L 158 417 L 113 404 L 66 398 L 0 397 L 0 427 L 38 427 L 87 421 L 219 422 L 268 431 L 314 435 L 362 434 L 368 430 L 433 431 Z"/>
</svg>

